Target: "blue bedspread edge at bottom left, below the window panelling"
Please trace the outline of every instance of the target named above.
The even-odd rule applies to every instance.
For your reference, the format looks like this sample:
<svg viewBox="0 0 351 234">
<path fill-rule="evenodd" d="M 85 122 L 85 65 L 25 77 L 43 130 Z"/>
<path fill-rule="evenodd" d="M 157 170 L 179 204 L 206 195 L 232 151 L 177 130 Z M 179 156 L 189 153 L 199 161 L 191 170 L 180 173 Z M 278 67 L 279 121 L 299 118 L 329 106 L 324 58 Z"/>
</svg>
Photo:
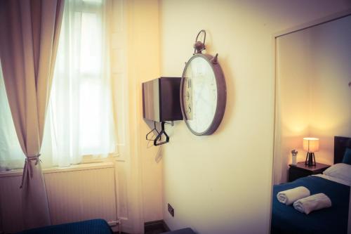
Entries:
<svg viewBox="0 0 351 234">
<path fill-rule="evenodd" d="M 92 219 L 76 223 L 65 223 L 60 225 L 46 226 L 24 230 L 18 234 L 112 234 L 108 223 L 103 219 Z"/>
</svg>

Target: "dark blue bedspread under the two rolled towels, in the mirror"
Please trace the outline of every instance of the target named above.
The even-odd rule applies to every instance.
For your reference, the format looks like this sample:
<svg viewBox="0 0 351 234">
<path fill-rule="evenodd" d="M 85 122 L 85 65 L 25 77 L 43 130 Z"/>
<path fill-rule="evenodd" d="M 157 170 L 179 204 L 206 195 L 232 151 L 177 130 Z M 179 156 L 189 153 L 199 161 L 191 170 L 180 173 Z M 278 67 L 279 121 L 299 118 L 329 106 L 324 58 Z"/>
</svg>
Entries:
<svg viewBox="0 0 351 234">
<path fill-rule="evenodd" d="M 307 215 L 277 200 L 277 193 L 298 186 L 308 188 L 311 195 L 324 193 L 331 199 L 332 206 Z M 349 201 L 350 186 L 318 176 L 307 176 L 274 186 L 271 233 L 347 233 Z"/>
</svg>

